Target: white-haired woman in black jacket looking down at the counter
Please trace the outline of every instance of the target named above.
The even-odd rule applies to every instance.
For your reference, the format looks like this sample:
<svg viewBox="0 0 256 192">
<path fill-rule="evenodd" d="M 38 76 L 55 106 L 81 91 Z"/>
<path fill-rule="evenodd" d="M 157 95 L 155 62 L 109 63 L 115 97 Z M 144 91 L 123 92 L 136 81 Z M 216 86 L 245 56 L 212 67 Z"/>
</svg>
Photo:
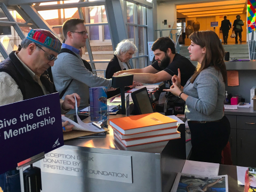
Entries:
<svg viewBox="0 0 256 192">
<path fill-rule="evenodd" d="M 109 61 L 106 70 L 106 78 L 112 78 L 114 73 L 121 70 L 132 69 L 129 60 L 132 55 L 137 51 L 137 47 L 129 39 L 124 39 L 117 44 L 116 50 L 114 51 L 114 57 Z M 130 89 L 126 87 L 125 90 Z M 111 98 L 120 93 L 120 90 L 108 92 L 108 98 Z"/>
</svg>

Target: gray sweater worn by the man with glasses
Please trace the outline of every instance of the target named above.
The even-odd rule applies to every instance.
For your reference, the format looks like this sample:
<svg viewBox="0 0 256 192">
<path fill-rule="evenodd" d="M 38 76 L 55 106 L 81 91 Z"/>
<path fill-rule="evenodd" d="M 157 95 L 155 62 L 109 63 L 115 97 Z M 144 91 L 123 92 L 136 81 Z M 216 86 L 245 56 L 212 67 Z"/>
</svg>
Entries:
<svg viewBox="0 0 256 192">
<path fill-rule="evenodd" d="M 61 53 L 52 67 L 53 82 L 56 90 L 60 93 L 68 86 L 71 79 L 73 82 L 69 85 L 65 95 L 77 93 L 81 97 L 80 107 L 89 105 L 89 87 L 106 86 L 111 87 L 112 79 L 106 79 L 93 75 L 84 67 L 79 54 L 78 58 L 70 53 Z"/>
</svg>

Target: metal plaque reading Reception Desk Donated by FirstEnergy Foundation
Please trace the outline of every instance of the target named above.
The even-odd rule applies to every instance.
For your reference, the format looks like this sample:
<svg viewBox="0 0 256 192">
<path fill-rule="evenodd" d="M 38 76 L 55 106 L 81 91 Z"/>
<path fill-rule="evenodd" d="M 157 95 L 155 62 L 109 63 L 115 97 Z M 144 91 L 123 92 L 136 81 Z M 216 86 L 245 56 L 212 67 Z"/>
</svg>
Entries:
<svg viewBox="0 0 256 192">
<path fill-rule="evenodd" d="M 132 157 L 55 149 L 40 161 L 41 171 L 132 183 Z"/>
</svg>

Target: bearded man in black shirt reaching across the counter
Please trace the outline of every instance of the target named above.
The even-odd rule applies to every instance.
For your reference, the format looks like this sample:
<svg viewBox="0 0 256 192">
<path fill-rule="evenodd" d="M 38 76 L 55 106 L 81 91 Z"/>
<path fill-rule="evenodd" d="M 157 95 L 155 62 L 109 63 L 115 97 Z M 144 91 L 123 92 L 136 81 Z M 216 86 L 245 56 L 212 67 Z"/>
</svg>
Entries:
<svg viewBox="0 0 256 192">
<path fill-rule="evenodd" d="M 142 69 L 118 71 L 114 76 L 132 74 L 136 82 L 154 84 L 166 81 L 171 85 L 172 76 L 178 76 L 178 69 L 180 69 L 181 85 L 184 86 L 194 74 L 196 67 L 189 59 L 175 52 L 175 45 L 169 37 L 158 38 L 151 49 L 154 51 L 156 60 L 152 65 Z"/>
</svg>

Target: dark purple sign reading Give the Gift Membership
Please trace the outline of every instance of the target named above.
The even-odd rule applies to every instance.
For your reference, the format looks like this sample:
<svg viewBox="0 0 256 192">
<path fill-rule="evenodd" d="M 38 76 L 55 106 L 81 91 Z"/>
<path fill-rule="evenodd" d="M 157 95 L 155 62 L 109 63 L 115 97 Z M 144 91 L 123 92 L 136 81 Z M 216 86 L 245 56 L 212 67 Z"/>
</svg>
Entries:
<svg viewBox="0 0 256 192">
<path fill-rule="evenodd" d="M 0 107 L 0 174 L 63 146 L 59 93 Z"/>
</svg>

